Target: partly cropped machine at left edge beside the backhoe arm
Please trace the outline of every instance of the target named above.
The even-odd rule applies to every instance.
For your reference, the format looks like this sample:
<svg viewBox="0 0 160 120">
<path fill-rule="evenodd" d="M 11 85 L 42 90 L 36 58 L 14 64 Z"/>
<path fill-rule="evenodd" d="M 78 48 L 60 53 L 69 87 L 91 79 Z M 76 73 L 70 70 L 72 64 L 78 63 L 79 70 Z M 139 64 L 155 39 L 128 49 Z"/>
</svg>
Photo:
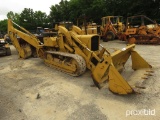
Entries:
<svg viewBox="0 0 160 120">
<path fill-rule="evenodd" d="M 0 55 L 11 55 L 11 49 L 9 43 L 6 41 L 5 38 L 0 39 Z"/>
</svg>

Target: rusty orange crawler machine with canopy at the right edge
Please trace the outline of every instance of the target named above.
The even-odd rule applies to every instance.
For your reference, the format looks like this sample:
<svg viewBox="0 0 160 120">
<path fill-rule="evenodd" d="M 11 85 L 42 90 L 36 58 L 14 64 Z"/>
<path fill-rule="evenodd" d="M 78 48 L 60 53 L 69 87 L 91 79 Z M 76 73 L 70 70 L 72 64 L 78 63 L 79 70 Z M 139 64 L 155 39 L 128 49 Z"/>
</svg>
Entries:
<svg viewBox="0 0 160 120">
<path fill-rule="evenodd" d="M 160 26 L 144 15 L 128 17 L 122 40 L 128 44 L 160 44 Z"/>
</svg>

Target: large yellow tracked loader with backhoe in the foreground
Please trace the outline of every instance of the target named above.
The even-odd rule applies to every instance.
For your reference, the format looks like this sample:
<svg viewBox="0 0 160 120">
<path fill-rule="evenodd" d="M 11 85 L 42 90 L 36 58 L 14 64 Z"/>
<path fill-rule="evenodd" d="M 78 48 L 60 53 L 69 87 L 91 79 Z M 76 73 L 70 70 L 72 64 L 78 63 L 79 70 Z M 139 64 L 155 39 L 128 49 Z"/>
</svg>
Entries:
<svg viewBox="0 0 160 120">
<path fill-rule="evenodd" d="M 151 68 L 151 65 L 134 50 L 134 44 L 110 53 L 99 44 L 99 35 L 78 35 L 72 30 L 72 26 L 68 26 L 68 29 L 58 26 L 57 36 L 45 36 L 40 40 L 38 36 L 8 19 L 8 35 L 19 57 L 26 59 L 36 53 L 46 65 L 72 76 L 80 76 L 88 68 L 94 84 L 98 88 L 108 85 L 113 93 L 134 93 L 134 87 L 138 86 L 131 86 L 120 74 L 130 56 L 132 69 Z M 138 88 L 141 88 L 139 86 Z"/>
</svg>

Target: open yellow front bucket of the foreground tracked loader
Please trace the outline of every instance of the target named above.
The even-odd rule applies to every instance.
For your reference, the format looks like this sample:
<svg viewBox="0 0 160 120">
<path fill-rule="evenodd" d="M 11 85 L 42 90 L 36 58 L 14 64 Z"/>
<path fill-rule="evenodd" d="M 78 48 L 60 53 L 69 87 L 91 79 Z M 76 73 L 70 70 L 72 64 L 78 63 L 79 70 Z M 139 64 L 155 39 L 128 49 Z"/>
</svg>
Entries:
<svg viewBox="0 0 160 120">
<path fill-rule="evenodd" d="M 152 66 L 134 51 L 134 47 L 135 44 L 132 44 L 114 52 L 110 56 L 104 56 L 104 61 L 98 63 L 92 72 L 92 78 L 97 87 L 101 88 L 105 81 L 108 80 L 109 90 L 113 93 L 135 93 L 133 87 L 136 85 L 130 85 L 120 74 L 124 69 L 125 63 L 131 56 L 133 70 L 151 68 Z"/>
</svg>

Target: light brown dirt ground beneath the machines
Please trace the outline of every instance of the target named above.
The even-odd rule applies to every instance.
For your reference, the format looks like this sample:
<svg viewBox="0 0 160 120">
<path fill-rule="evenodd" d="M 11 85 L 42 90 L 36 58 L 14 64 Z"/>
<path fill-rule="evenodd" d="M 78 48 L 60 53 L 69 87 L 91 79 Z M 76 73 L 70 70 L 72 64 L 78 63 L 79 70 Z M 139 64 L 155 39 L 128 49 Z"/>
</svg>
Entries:
<svg viewBox="0 0 160 120">
<path fill-rule="evenodd" d="M 117 40 L 102 45 L 111 51 L 126 46 Z M 154 73 L 145 80 L 146 89 L 141 94 L 131 95 L 116 95 L 107 88 L 93 87 L 89 70 L 72 77 L 47 67 L 39 58 L 18 59 L 12 45 L 11 50 L 11 56 L 0 57 L 0 120 L 160 119 L 158 45 L 136 45 L 135 50 L 153 66 Z M 130 68 L 128 61 L 124 77 L 131 75 Z M 144 110 L 150 113 L 143 113 Z"/>
</svg>

